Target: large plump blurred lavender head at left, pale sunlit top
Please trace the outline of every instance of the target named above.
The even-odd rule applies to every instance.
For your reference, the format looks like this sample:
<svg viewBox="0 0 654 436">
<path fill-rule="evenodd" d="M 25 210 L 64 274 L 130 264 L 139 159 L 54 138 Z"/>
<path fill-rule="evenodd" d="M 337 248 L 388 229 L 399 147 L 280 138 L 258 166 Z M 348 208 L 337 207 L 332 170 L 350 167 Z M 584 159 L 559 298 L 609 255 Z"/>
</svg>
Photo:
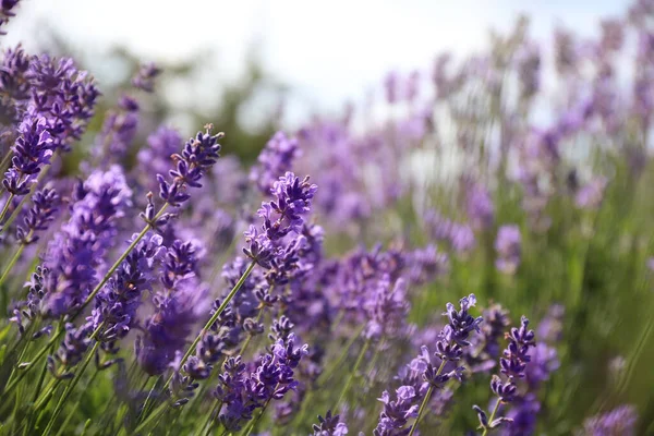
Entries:
<svg viewBox="0 0 654 436">
<path fill-rule="evenodd" d="M 50 317 L 75 312 L 97 283 L 102 259 L 116 239 L 118 220 L 131 205 L 132 191 L 119 167 L 96 171 L 77 186 L 70 218 L 48 244 L 45 265 Z"/>
</svg>

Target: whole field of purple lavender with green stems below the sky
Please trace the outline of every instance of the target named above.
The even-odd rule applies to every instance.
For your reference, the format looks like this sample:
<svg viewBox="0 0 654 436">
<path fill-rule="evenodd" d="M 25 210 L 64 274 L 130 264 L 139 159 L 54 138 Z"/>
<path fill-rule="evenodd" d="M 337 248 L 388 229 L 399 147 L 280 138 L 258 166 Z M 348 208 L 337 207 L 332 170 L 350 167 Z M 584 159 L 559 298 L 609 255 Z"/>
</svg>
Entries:
<svg viewBox="0 0 654 436">
<path fill-rule="evenodd" d="M 0 435 L 654 435 L 653 1 L 258 134 L 3 43 L 22 3 Z"/>
</svg>

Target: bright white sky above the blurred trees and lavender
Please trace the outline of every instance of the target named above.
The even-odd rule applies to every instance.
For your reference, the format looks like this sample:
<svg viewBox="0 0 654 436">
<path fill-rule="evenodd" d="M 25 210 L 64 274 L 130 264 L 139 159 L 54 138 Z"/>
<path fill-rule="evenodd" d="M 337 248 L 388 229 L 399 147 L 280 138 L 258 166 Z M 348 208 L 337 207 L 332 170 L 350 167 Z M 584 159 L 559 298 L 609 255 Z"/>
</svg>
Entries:
<svg viewBox="0 0 654 436">
<path fill-rule="evenodd" d="M 562 23 L 596 32 L 620 0 L 23 0 L 9 44 L 31 44 L 47 26 L 73 46 L 102 52 L 123 45 L 144 60 L 194 59 L 237 80 L 254 48 L 264 68 L 292 86 L 300 108 L 335 111 L 361 99 L 390 70 L 427 70 L 436 53 L 464 56 L 510 28 L 521 12 L 547 38 Z M 210 48 L 210 59 L 197 57 Z M 296 114 L 302 117 L 302 114 Z"/>
</svg>

